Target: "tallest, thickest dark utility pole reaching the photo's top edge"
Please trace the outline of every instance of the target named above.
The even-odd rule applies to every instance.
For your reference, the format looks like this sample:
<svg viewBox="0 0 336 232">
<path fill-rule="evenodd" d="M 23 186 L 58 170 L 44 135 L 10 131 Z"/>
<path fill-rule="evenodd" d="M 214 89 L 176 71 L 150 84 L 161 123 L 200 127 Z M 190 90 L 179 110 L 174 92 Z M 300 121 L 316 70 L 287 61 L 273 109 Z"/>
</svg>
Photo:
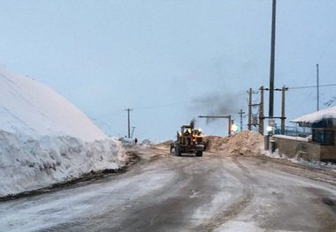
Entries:
<svg viewBox="0 0 336 232">
<path fill-rule="evenodd" d="M 274 116 L 274 63 L 275 63 L 275 31 L 276 31 L 276 6 L 277 1 L 273 0 L 271 16 L 271 67 L 270 67 L 270 108 L 269 120 Z"/>
</svg>

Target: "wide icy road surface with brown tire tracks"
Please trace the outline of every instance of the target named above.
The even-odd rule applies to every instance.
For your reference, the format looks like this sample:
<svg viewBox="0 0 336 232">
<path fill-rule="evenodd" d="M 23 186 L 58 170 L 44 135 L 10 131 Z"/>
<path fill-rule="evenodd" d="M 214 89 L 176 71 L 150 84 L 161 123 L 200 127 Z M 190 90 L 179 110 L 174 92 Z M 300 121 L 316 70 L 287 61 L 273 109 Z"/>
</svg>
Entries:
<svg viewBox="0 0 336 232">
<path fill-rule="evenodd" d="M 335 173 L 142 148 L 121 175 L 0 203 L 0 231 L 336 231 Z"/>
</svg>

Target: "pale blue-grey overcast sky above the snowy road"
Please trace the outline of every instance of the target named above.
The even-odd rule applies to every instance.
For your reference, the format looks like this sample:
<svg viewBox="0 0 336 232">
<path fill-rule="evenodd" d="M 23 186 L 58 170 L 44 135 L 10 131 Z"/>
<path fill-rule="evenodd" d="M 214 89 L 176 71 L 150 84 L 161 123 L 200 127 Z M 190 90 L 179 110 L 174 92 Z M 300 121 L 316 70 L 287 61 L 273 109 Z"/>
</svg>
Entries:
<svg viewBox="0 0 336 232">
<path fill-rule="evenodd" d="M 336 83 L 336 1 L 277 8 L 275 86 L 315 86 L 317 63 L 320 84 Z M 113 136 L 126 135 L 126 108 L 138 138 L 173 139 L 211 113 L 238 123 L 248 88 L 269 85 L 271 0 L 1 1 L 0 26 L 1 65 L 52 87 Z M 335 90 L 321 88 L 321 109 Z M 287 118 L 316 110 L 315 89 L 286 94 Z M 225 120 L 197 125 L 227 133 Z"/>
</svg>

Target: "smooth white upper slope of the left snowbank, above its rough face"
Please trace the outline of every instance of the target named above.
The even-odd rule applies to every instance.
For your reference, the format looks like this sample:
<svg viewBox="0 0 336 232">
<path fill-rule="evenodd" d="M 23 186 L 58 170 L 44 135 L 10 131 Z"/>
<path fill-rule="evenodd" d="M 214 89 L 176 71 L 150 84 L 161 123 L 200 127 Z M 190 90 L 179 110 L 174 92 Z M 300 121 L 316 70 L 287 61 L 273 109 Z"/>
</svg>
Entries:
<svg viewBox="0 0 336 232">
<path fill-rule="evenodd" d="M 4 131 L 71 136 L 83 141 L 106 136 L 72 103 L 47 86 L 0 69 L 0 126 Z"/>
</svg>

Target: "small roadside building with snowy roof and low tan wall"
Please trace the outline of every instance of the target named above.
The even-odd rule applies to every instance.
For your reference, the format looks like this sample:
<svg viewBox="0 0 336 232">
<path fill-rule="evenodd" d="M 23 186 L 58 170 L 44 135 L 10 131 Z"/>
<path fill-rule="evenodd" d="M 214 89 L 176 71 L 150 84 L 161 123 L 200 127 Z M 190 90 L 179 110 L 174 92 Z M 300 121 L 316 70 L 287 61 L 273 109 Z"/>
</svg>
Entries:
<svg viewBox="0 0 336 232">
<path fill-rule="evenodd" d="M 336 162 L 336 107 L 300 116 L 291 122 L 300 127 L 309 127 L 311 135 L 306 138 L 274 135 L 273 140 L 280 154 L 298 156 L 308 161 Z"/>
</svg>

